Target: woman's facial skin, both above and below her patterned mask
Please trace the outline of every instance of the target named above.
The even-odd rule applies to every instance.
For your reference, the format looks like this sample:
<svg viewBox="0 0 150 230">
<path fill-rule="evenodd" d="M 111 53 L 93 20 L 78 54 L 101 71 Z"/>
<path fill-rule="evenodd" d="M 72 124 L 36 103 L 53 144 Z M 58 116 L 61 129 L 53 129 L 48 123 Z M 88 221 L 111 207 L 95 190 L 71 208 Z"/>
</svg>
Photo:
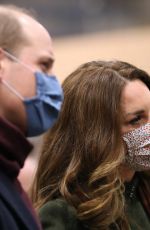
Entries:
<svg viewBox="0 0 150 230">
<path fill-rule="evenodd" d="M 150 122 L 150 90 L 140 80 L 133 80 L 128 82 L 122 92 L 121 107 L 121 131 L 123 135 Z M 141 167 L 141 162 L 144 164 L 147 159 L 144 158 L 141 161 L 141 158 L 136 159 L 134 155 L 130 156 L 130 158 L 134 159 L 134 164 L 132 159 L 132 164 L 130 161 L 127 161 L 127 164 L 123 164 L 120 169 L 123 181 L 130 181 L 135 171 L 137 171 L 137 166 L 139 169 L 139 166 Z M 143 169 L 144 168 L 142 168 L 142 170 Z"/>
</svg>

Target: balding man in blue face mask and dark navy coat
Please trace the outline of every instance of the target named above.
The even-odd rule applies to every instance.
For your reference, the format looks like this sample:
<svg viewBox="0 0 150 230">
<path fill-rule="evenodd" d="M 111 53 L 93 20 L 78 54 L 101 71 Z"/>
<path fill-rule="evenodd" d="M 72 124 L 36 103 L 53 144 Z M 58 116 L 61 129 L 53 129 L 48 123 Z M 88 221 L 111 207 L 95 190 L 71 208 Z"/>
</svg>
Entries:
<svg viewBox="0 0 150 230">
<path fill-rule="evenodd" d="M 0 229 L 40 229 L 17 180 L 36 136 L 52 126 L 62 91 L 52 76 L 46 29 L 24 10 L 0 6 Z M 48 76 L 51 75 L 51 76 Z"/>
</svg>

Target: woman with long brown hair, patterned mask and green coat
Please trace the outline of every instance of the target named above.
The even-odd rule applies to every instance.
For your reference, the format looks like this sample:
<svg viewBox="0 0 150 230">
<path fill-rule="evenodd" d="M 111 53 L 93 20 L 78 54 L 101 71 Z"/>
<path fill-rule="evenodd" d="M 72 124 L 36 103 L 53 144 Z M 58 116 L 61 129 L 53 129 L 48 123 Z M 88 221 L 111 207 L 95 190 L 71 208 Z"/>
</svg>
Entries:
<svg viewBox="0 0 150 230">
<path fill-rule="evenodd" d="M 62 110 L 46 136 L 32 193 L 45 230 L 140 229 L 131 215 L 129 182 L 137 183 L 137 170 L 150 168 L 149 156 L 142 156 L 148 144 L 137 135 L 150 133 L 149 88 L 147 73 L 121 61 L 89 62 L 66 78 Z M 143 148 L 136 149 L 138 140 Z M 149 186 L 142 183 L 138 211 L 145 230 L 148 194 L 141 195 Z"/>
</svg>

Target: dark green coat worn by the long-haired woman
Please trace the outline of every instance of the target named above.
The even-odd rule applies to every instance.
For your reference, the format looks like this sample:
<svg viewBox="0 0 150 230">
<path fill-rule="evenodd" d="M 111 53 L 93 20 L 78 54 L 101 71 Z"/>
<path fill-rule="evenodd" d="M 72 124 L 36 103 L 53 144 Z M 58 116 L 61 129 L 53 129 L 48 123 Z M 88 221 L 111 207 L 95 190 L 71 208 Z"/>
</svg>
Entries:
<svg viewBox="0 0 150 230">
<path fill-rule="evenodd" d="M 127 199 L 127 217 L 131 230 L 150 230 L 150 222 L 137 199 Z M 77 219 L 75 209 L 65 200 L 47 202 L 39 211 L 43 230 L 86 230 Z M 110 228 L 116 229 L 116 228 Z"/>
</svg>

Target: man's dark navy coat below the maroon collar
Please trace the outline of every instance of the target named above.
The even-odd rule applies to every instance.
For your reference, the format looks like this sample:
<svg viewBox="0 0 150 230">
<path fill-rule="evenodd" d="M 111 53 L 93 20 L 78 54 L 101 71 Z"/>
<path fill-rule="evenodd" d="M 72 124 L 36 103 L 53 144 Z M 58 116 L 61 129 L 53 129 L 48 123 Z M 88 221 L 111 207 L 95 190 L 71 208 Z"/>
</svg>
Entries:
<svg viewBox="0 0 150 230">
<path fill-rule="evenodd" d="M 12 181 L 0 172 L 0 230 L 39 230 Z"/>
</svg>

